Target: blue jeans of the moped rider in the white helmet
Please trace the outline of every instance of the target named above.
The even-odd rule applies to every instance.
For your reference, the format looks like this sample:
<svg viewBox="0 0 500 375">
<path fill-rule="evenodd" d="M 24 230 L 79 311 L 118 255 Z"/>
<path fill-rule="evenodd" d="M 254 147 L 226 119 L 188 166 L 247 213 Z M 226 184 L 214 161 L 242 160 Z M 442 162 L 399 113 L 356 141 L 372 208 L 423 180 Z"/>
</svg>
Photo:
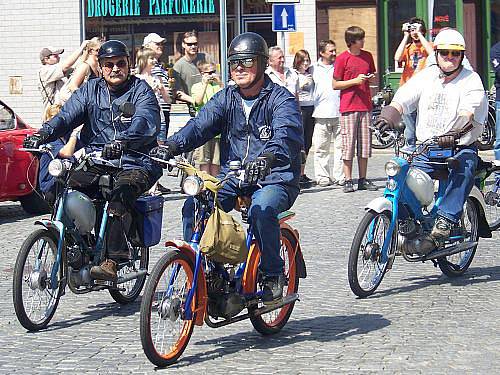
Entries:
<svg viewBox="0 0 500 375">
<path fill-rule="evenodd" d="M 464 148 L 455 154 L 458 160 L 458 167 L 451 169 L 448 175 L 448 186 L 443 196 L 443 200 L 438 209 L 438 215 L 448 220 L 458 223 L 462 217 L 464 203 L 469 196 L 474 185 L 474 175 L 477 167 L 477 149 L 475 147 Z M 447 169 L 446 165 L 431 165 L 427 154 L 417 156 L 413 161 L 413 166 L 423 170 L 432 176 L 436 170 Z M 437 160 L 432 160 L 437 161 Z M 441 161 L 441 160 L 439 160 Z"/>
</svg>

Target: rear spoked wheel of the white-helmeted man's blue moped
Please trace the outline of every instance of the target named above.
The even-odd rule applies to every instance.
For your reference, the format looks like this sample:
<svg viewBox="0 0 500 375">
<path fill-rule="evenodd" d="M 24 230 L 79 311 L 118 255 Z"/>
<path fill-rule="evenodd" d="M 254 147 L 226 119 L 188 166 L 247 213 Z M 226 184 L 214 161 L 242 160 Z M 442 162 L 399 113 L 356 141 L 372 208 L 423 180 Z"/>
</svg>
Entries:
<svg viewBox="0 0 500 375">
<path fill-rule="evenodd" d="M 479 211 L 476 203 L 474 203 L 471 198 L 467 198 L 461 223 L 462 228 L 464 228 L 467 233 L 464 239 L 465 242 L 474 242 L 478 240 L 478 217 Z M 476 254 L 476 248 L 477 246 L 474 246 L 472 249 L 438 258 L 439 268 L 441 268 L 441 271 L 448 277 L 457 277 L 464 274 L 472 263 L 472 259 Z"/>
</svg>

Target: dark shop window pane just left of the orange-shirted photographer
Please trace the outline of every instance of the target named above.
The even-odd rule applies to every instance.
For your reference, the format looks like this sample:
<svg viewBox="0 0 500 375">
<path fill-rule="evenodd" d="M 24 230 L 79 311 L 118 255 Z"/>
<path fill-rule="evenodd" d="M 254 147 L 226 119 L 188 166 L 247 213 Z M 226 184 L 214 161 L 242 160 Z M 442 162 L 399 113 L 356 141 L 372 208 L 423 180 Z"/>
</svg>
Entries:
<svg viewBox="0 0 500 375">
<path fill-rule="evenodd" d="M 388 35 L 389 35 L 389 66 L 394 71 L 394 53 L 403 39 L 401 27 L 410 18 L 415 17 L 415 1 L 409 0 L 389 0 L 388 1 Z"/>
</svg>

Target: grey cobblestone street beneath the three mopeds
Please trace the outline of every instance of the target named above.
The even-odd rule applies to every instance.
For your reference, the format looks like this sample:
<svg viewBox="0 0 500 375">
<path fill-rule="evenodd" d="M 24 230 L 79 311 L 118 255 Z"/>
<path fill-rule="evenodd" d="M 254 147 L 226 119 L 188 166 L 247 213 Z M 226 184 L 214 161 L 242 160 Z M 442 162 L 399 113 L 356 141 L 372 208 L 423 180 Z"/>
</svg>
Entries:
<svg viewBox="0 0 500 375">
<path fill-rule="evenodd" d="M 382 186 L 388 154 L 377 153 L 369 177 Z M 312 159 L 312 158 L 311 158 Z M 313 176 L 311 166 L 308 175 Z M 355 173 L 355 176 L 357 174 Z M 162 243 L 180 238 L 179 179 L 165 196 Z M 377 292 L 355 298 L 347 259 L 363 207 L 379 192 L 344 194 L 314 187 L 297 199 L 291 225 L 301 234 L 308 278 L 289 323 L 272 337 L 249 321 L 194 329 L 180 360 L 164 373 L 337 374 L 500 373 L 499 234 L 480 239 L 469 271 L 449 279 L 431 262 L 398 257 Z M 68 289 L 47 329 L 28 333 L 12 303 L 17 252 L 37 217 L 19 203 L 0 204 L 0 373 L 153 373 L 139 337 L 140 299 L 120 306 L 108 292 L 74 295 Z M 162 254 L 151 250 L 149 269 Z"/>
</svg>

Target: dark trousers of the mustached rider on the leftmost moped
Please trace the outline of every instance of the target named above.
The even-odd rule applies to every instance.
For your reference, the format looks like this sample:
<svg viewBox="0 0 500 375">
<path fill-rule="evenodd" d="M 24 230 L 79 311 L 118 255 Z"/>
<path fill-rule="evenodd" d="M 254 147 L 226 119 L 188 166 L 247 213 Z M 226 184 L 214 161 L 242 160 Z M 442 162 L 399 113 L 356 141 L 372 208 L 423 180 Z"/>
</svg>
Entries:
<svg viewBox="0 0 500 375">
<path fill-rule="evenodd" d="M 96 198 L 99 196 L 100 174 L 92 171 L 74 173 L 69 181 L 72 188 Z M 132 211 L 137 198 L 153 185 L 149 174 L 142 169 L 121 170 L 113 175 L 113 190 L 109 197 L 107 255 L 113 260 L 128 257 L 124 233 L 129 234 L 133 222 Z"/>
</svg>

